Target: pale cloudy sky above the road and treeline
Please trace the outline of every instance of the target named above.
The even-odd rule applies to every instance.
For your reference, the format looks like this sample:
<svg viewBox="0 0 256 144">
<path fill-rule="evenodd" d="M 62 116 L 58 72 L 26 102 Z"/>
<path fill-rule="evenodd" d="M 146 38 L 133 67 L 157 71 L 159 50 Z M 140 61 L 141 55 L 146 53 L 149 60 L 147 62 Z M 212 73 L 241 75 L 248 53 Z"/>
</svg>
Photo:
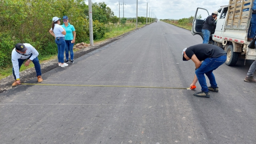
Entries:
<svg viewBox="0 0 256 144">
<path fill-rule="evenodd" d="M 114 15 L 119 17 L 119 0 L 91 0 L 93 3 L 103 1 L 111 8 Z M 88 0 L 85 0 L 85 3 L 88 4 Z M 195 15 L 198 7 L 207 9 L 211 14 L 217 11 L 220 6 L 228 5 L 228 3 L 229 0 L 138 0 L 138 16 L 146 17 L 147 14 L 149 17 L 150 13 L 151 17 L 153 11 L 158 19 L 188 18 Z M 136 17 L 136 5 L 137 0 L 120 0 L 120 17 L 123 15 L 124 17 Z"/>
</svg>

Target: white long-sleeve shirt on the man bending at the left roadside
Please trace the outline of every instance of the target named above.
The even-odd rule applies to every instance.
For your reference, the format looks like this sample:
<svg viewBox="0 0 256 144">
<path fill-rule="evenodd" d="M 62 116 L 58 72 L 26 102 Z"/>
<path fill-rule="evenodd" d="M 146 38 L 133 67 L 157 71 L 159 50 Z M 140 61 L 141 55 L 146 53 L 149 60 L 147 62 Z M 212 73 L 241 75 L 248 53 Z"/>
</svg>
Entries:
<svg viewBox="0 0 256 144">
<path fill-rule="evenodd" d="M 24 55 L 17 53 L 16 48 L 14 48 L 12 50 L 12 66 L 13 66 L 14 74 L 15 74 L 16 78 L 19 78 L 18 59 L 27 59 L 30 57 L 30 54 L 32 53 L 33 55 L 29 58 L 32 61 L 34 58 L 36 58 L 39 55 L 37 50 L 32 45 L 30 45 L 29 43 L 24 43 L 24 45 L 28 48 L 24 55 L 28 55 L 28 56 L 24 56 Z"/>
</svg>

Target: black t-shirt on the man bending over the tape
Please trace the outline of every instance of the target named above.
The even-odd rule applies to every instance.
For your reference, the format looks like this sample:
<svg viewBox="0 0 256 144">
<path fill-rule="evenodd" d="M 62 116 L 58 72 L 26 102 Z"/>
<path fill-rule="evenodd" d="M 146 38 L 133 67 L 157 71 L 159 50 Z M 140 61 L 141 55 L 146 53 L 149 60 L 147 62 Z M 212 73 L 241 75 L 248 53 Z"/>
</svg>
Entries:
<svg viewBox="0 0 256 144">
<path fill-rule="evenodd" d="M 190 46 L 186 49 L 185 53 L 190 59 L 195 54 L 200 61 L 209 57 L 217 58 L 226 54 L 222 48 L 205 43 Z"/>
</svg>

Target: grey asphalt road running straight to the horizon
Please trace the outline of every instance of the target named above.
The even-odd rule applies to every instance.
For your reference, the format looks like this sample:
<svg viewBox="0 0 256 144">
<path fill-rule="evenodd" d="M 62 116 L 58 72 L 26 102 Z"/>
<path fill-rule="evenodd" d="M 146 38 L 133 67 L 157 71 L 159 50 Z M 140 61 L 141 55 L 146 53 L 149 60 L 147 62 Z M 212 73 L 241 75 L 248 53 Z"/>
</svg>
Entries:
<svg viewBox="0 0 256 144">
<path fill-rule="evenodd" d="M 182 61 L 182 49 L 199 43 L 158 21 L 44 73 L 41 84 L 187 88 L 195 66 Z M 243 81 L 252 62 L 215 70 L 219 92 L 210 98 L 193 96 L 199 83 L 195 90 L 19 85 L 0 93 L 0 143 L 255 144 L 256 84 Z"/>
</svg>

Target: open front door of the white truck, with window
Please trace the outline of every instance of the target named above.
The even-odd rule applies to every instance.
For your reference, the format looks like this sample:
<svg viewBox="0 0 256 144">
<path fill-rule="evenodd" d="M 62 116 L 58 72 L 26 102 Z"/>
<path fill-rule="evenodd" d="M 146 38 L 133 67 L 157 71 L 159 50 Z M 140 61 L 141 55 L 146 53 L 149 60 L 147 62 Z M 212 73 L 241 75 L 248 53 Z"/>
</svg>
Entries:
<svg viewBox="0 0 256 144">
<path fill-rule="evenodd" d="M 192 29 L 191 29 L 191 33 L 193 35 L 199 34 L 203 39 L 202 27 L 204 24 L 204 19 L 206 19 L 208 16 L 209 16 L 209 12 L 206 9 L 197 8 L 197 11 L 192 23 Z"/>
</svg>

